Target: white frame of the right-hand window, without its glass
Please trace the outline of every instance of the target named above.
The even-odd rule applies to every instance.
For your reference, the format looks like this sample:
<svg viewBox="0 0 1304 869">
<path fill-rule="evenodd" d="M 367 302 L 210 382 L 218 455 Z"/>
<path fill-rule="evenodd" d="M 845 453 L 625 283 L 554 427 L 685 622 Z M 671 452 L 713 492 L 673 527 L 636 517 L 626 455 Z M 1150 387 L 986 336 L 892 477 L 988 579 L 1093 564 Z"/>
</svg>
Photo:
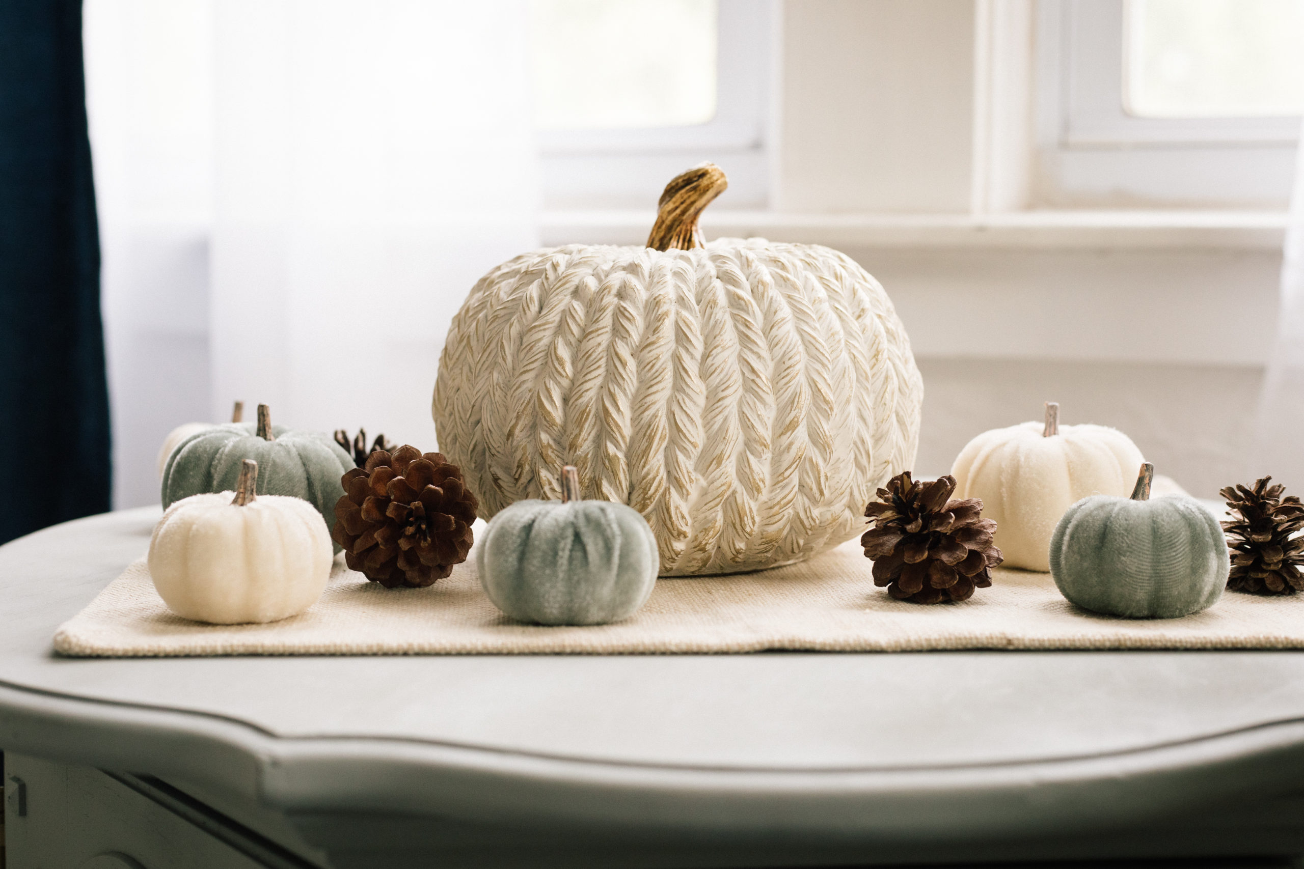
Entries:
<svg viewBox="0 0 1304 869">
<path fill-rule="evenodd" d="M 1125 3 L 1038 3 L 1034 201 L 1284 206 L 1300 119 L 1131 115 L 1124 104 Z"/>
</svg>

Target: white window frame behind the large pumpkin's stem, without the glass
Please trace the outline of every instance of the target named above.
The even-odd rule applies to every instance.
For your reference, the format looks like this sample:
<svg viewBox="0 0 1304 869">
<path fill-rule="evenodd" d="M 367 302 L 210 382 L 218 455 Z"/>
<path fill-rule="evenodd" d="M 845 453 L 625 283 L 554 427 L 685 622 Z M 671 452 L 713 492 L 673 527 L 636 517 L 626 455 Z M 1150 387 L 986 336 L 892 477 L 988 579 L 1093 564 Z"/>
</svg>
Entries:
<svg viewBox="0 0 1304 869">
<path fill-rule="evenodd" d="M 729 176 L 732 207 L 763 207 L 769 193 L 777 0 L 719 0 L 716 113 L 705 124 L 644 129 L 540 130 L 544 207 L 653 208 L 674 175 L 711 160 Z"/>
</svg>

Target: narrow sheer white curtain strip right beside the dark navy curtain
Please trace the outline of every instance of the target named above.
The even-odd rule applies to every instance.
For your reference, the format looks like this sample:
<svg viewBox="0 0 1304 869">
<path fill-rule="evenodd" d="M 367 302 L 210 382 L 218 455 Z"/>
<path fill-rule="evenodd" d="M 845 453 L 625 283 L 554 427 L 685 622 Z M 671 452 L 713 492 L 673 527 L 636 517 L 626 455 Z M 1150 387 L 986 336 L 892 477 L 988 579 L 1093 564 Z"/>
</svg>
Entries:
<svg viewBox="0 0 1304 869">
<path fill-rule="evenodd" d="M 150 452 L 163 435 L 210 418 L 213 9 L 206 0 L 83 9 L 113 504 L 134 507 L 159 499 Z"/>
</svg>

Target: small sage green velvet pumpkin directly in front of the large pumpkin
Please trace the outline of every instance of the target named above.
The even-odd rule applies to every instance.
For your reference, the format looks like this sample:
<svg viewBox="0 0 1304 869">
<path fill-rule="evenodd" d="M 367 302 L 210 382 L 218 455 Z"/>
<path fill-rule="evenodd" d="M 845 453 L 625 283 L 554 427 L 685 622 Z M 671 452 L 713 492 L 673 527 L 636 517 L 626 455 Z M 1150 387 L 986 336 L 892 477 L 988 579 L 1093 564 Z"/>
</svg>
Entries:
<svg viewBox="0 0 1304 869">
<path fill-rule="evenodd" d="M 656 584 L 656 538 L 625 504 L 580 500 L 562 469 L 562 500 L 501 511 L 476 546 L 485 594 L 520 621 L 606 624 L 634 615 Z"/>
</svg>

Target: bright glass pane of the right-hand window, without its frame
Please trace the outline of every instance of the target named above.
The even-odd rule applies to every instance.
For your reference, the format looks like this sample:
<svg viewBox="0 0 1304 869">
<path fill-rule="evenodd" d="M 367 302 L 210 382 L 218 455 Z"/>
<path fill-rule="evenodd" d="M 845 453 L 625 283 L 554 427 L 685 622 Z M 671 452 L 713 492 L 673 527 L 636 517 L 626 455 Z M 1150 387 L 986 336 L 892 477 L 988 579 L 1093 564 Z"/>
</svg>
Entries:
<svg viewBox="0 0 1304 869">
<path fill-rule="evenodd" d="M 1131 0 L 1124 64 L 1133 115 L 1299 115 L 1304 0 Z"/>
</svg>

